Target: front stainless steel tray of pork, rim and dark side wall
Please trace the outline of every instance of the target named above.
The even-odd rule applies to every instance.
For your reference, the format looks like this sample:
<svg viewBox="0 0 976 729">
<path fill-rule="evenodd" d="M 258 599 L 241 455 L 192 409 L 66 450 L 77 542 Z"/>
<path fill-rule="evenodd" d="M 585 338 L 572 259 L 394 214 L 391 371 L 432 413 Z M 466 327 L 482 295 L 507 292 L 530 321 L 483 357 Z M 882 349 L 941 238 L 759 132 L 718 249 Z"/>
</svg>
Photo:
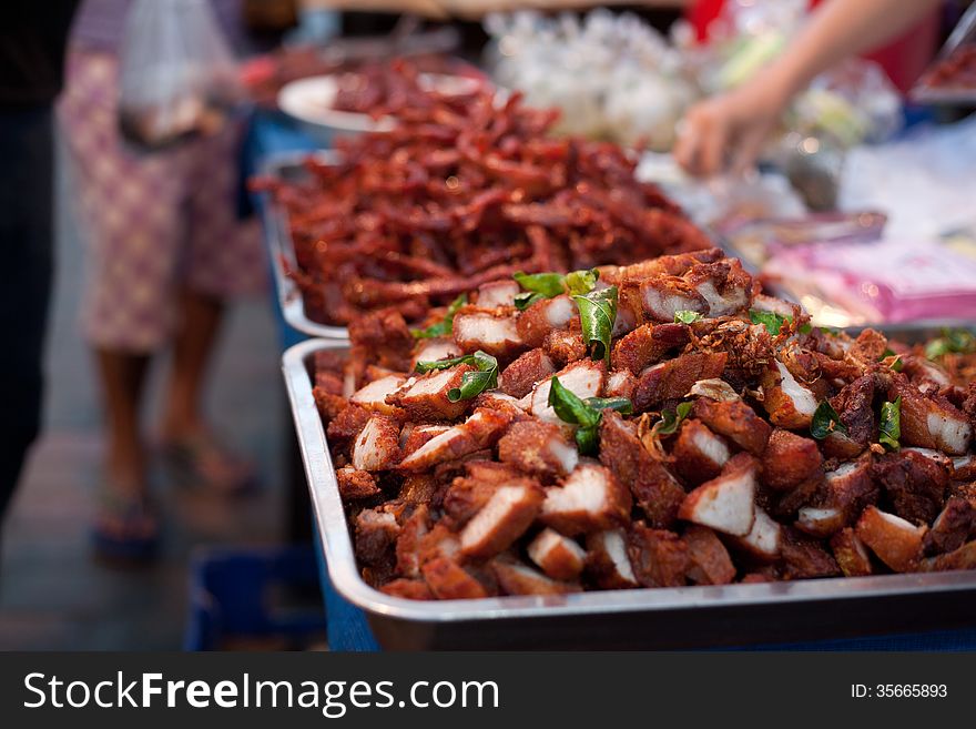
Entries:
<svg viewBox="0 0 976 729">
<path fill-rule="evenodd" d="M 429 603 L 384 595 L 359 577 L 312 395 L 313 354 L 345 346 L 303 342 L 283 368 L 329 579 L 366 612 L 384 648 L 701 648 L 976 622 L 976 571 Z"/>
</svg>

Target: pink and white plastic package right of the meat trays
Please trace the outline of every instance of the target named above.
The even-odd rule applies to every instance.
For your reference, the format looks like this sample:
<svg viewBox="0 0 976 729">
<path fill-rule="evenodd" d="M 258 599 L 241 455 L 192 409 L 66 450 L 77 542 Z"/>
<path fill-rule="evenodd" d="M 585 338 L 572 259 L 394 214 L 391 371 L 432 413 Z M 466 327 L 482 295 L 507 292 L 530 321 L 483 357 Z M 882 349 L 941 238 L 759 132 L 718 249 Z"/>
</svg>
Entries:
<svg viewBox="0 0 976 729">
<path fill-rule="evenodd" d="M 976 321 L 976 257 L 937 241 L 777 246 L 763 275 L 821 325 Z"/>
</svg>

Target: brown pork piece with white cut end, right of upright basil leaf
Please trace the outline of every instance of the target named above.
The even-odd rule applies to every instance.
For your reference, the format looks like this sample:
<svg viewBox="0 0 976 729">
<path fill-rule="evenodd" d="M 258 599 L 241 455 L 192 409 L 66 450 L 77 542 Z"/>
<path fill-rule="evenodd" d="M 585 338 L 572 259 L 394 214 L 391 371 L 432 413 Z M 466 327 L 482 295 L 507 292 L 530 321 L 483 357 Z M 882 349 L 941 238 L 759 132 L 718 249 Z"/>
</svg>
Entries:
<svg viewBox="0 0 976 729">
<path fill-rule="evenodd" d="M 965 414 L 944 397 L 924 397 L 908 381 L 896 374 L 888 388 L 888 399 L 902 398 L 902 443 L 935 448 L 950 456 L 962 456 L 973 439 L 973 426 Z"/>
</svg>

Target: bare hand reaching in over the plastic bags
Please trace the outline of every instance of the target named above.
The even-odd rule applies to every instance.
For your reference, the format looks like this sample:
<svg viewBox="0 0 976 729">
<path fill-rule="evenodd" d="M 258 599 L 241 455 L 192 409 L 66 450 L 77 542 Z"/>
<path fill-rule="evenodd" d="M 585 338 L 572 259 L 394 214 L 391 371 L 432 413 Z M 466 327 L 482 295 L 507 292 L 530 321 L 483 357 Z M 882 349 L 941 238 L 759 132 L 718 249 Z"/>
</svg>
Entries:
<svg viewBox="0 0 976 729">
<path fill-rule="evenodd" d="M 789 94 L 758 77 L 693 105 L 679 123 L 674 159 L 695 176 L 739 174 L 755 163 Z"/>
</svg>

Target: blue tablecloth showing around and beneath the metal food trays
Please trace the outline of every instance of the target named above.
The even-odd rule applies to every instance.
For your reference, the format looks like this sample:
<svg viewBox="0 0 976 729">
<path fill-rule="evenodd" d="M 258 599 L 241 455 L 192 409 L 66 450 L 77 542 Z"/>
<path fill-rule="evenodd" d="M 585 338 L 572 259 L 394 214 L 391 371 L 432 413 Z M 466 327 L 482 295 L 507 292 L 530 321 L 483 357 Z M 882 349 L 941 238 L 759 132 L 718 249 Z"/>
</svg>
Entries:
<svg viewBox="0 0 976 729">
<path fill-rule="evenodd" d="M 302 130 L 291 125 L 279 115 L 258 113 L 247 136 L 244 169 L 255 172 L 262 160 L 271 154 L 313 150 L 319 146 Z M 275 316 L 278 322 L 282 350 L 306 338 L 285 323 L 275 302 Z M 325 599 L 328 624 L 328 644 L 333 650 L 370 651 L 379 650 L 366 616 L 362 610 L 343 599 L 333 588 L 328 570 L 323 560 L 322 544 L 316 533 L 316 554 L 319 559 L 322 591 Z M 837 616 L 843 620 L 843 615 Z M 845 640 L 819 640 L 802 644 L 774 646 L 748 646 L 752 650 L 976 650 L 976 627 L 962 630 L 942 630 L 927 634 L 889 635 Z"/>
</svg>

